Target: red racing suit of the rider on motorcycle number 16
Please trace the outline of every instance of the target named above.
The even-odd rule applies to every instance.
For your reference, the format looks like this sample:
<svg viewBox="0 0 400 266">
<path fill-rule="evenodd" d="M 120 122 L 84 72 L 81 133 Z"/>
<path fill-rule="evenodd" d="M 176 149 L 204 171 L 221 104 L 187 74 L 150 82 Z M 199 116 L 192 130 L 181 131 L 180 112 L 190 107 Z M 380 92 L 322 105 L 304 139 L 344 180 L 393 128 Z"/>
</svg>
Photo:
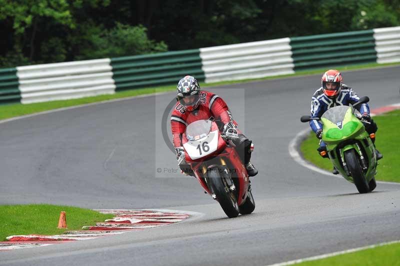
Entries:
<svg viewBox="0 0 400 266">
<path fill-rule="evenodd" d="M 170 119 L 175 150 L 183 150 L 182 134 L 191 122 L 202 119 L 214 120 L 220 131 L 223 131 L 225 124 L 233 123 L 236 126 L 238 138 L 232 139 L 232 141 L 236 145 L 235 149 L 244 165 L 248 164 L 251 156 L 251 140 L 237 128 L 237 123 L 233 120 L 225 101 L 209 91 L 201 90 L 199 93 L 199 104 L 193 111 L 186 111 L 179 102 L 172 110 Z M 189 164 L 179 164 L 179 166 L 183 172 L 194 176 Z"/>
</svg>

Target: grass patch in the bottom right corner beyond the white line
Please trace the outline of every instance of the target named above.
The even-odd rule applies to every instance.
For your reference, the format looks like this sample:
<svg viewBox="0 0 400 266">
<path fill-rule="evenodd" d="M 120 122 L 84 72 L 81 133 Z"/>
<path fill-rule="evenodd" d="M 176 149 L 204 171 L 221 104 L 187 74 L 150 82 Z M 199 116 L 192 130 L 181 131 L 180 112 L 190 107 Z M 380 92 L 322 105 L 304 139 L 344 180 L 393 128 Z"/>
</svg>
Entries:
<svg viewBox="0 0 400 266">
<path fill-rule="evenodd" d="M 336 255 L 318 260 L 305 261 L 296 265 L 313 266 L 313 265 L 341 265 L 341 266 L 393 266 L 400 265 L 399 261 L 400 243 L 392 243 L 373 248 L 368 248 L 356 252 L 342 255 Z"/>
</svg>

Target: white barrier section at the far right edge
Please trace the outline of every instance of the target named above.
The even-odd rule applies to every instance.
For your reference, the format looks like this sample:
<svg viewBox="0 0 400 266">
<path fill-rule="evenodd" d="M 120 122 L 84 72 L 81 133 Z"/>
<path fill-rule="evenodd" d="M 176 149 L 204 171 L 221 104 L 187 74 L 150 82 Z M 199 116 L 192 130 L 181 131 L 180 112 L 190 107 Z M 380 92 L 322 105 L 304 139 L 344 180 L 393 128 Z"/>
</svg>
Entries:
<svg viewBox="0 0 400 266">
<path fill-rule="evenodd" d="M 400 26 L 373 29 L 377 63 L 400 62 Z"/>
</svg>

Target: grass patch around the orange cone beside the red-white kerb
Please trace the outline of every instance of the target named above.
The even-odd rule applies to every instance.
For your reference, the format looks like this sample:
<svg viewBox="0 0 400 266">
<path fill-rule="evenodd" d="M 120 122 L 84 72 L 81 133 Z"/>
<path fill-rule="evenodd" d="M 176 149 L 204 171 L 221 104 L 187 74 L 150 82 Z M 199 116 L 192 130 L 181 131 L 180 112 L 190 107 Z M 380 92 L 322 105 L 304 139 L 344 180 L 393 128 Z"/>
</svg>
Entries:
<svg viewBox="0 0 400 266">
<path fill-rule="evenodd" d="M 0 241 L 19 234 L 61 234 L 58 229 L 60 211 L 65 211 L 68 230 L 80 230 L 113 217 L 91 209 L 49 204 L 0 205 Z"/>
</svg>

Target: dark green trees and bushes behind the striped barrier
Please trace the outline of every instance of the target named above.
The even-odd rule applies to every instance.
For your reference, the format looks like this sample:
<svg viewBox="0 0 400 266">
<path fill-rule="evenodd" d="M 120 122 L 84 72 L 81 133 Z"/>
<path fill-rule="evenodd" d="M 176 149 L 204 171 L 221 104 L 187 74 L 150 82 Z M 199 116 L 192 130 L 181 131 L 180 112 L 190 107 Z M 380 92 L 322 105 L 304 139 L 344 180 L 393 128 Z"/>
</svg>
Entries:
<svg viewBox="0 0 400 266">
<path fill-rule="evenodd" d="M 0 67 L 400 25 L 400 0 L 0 0 Z"/>
</svg>

